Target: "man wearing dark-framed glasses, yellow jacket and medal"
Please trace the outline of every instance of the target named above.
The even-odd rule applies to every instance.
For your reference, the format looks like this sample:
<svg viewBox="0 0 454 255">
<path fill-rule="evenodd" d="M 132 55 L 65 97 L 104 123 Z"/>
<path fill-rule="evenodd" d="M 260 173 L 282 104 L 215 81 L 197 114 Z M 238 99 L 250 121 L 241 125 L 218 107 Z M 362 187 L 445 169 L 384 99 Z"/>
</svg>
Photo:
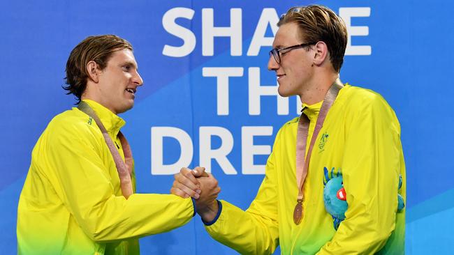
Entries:
<svg viewBox="0 0 454 255">
<path fill-rule="evenodd" d="M 291 8 L 278 26 L 268 69 L 280 95 L 300 96 L 302 115 L 277 133 L 245 212 L 226 201 L 199 212 L 208 233 L 241 254 L 272 254 L 277 245 L 282 254 L 404 254 L 397 194 L 402 178 L 405 197 L 405 165 L 393 109 L 339 81 L 347 33 L 332 10 Z M 183 173 L 175 183 L 194 185 Z M 348 204 L 343 220 L 325 209 L 325 183 L 335 176 L 343 178 L 337 199 Z"/>
</svg>

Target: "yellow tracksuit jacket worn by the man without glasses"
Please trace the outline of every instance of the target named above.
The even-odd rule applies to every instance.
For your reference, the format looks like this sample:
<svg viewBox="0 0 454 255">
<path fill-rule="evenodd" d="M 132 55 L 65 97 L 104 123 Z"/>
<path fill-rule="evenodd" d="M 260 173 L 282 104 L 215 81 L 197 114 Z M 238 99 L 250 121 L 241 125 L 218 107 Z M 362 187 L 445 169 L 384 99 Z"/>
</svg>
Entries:
<svg viewBox="0 0 454 255">
<path fill-rule="evenodd" d="M 124 120 L 85 102 L 124 158 L 117 138 Z M 126 200 L 101 131 L 73 108 L 55 116 L 34 147 L 17 209 L 17 249 L 19 254 L 139 254 L 140 236 L 170 231 L 192 216 L 191 199 L 132 194 Z"/>
</svg>

